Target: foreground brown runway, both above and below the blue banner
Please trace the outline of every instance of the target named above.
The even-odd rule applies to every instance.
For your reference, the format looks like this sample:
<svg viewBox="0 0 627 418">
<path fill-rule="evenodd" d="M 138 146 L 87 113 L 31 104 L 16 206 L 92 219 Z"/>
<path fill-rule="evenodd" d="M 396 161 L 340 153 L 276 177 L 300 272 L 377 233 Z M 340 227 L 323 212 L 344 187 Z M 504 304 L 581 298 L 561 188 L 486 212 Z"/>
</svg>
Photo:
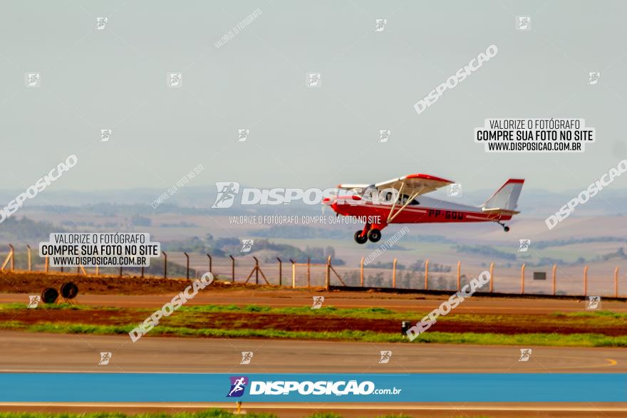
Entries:
<svg viewBox="0 0 627 418">
<path fill-rule="evenodd" d="M 534 347 L 529 361 L 519 361 L 519 347 L 480 345 L 377 344 L 300 340 L 145 337 L 132 343 L 126 335 L 62 335 L 0 332 L 0 372 L 627 372 L 627 350 L 613 348 Z M 388 364 L 380 351 L 390 350 Z M 240 365 L 242 351 L 254 352 Z M 98 365 L 100 352 L 112 352 Z M 192 412 L 224 403 L 49 403 L 2 402 L 1 411 L 19 412 Z M 242 412 L 266 412 L 281 418 L 334 412 L 343 417 L 378 417 L 380 404 L 246 403 Z M 388 414 L 412 417 L 624 417 L 619 403 L 416 403 L 385 404 Z"/>
</svg>

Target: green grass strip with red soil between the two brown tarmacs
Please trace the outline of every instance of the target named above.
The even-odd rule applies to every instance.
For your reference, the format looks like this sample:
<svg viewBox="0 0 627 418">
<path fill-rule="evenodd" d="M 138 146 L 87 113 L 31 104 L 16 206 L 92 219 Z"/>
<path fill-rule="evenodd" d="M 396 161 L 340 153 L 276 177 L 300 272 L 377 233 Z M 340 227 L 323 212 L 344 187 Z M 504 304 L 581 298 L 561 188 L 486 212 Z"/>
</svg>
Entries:
<svg viewBox="0 0 627 418">
<path fill-rule="evenodd" d="M 46 310 L 56 312 L 59 320 L 51 321 Z M 58 315 L 58 310 L 67 310 L 66 315 Z M 74 313 L 71 313 L 74 311 Z M 71 334 L 128 334 L 144 318 L 147 318 L 154 309 L 146 308 L 94 308 L 83 305 L 43 305 L 37 310 L 28 309 L 24 304 L 0 305 L 0 314 L 5 318 L 0 322 L 0 329 L 23 330 L 41 333 L 71 333 Z M 32 313 L 40 315 L 33 322 Z M 103 315 L 106 313 L 106 315 Z M 90 323 L 90 319 L 98 314 L 100 323 Z M 231 315 L 223 318 L 223 315 Z M 74 317 L 72 318 L 72 315 Z M 235 316 L 233 316 L 235 315 Z M 241 316 L 240 316 L 241 315 Z M 261 316 L 263 315 L 263 316 Z M 377 332 L 368 327 L 358 329 L 323 330 L 326 328 L 310 327 L 303 330 L 280 329 L 281 320 L 289 317 L 301 324 L 328 322 L 331 320 L 418 320 L 425 313 L 398 313 L 383 308 L 353 308 L 338 309 L 326 307 L 311 308 L 270 308 L 266 306 L 248 305 L 198 305 L 184 306 L 173 315 L 162 318 L 155 326 L 150 336 L 176 336 L 191 338 L 281 338 L 298 340 L 343 340 L 374 343 L 410 343 L 408 338 L 400 333 Z M 207 322 L 209 316 L 211 320 Z M 105 320 L 103 320 L 105 318 Z M 261 319 L 263 318 L 263 319 Z M 318 318 L 318 319 L 316 319 Z M 343 318 L 343 320 L 342 320 Z M 269 322 L 266 327 L 255 327 L 254 321 Z M 603 334 L 601 327 L 613 327 L 619 331 L 626 325 L 626 313 L 610 311 L 580 312 L 580 313 L 552 313 L 549 315 L 474 315 L 452 314 L 439 318 L 438 323 L 455 325 L 452 332 L 437 331 L 434 328 L 422 333 L 412 343 L 452 343 L 452 344 L 480 344 L 480 345 L 551 345 L 569 347 L 627 347 L 627 335 L 616 332 Z M 226 322 L 225 322 L 226 321 Z M 543 332 L 529 333 L 509 332 L 466 332 L 473 330 L 473 324 L 499 325 L 503 323 L 525 323 L 541 325 Z M 571 333 L 553 333 L 569 324 Z M 226 326 L 228 324 L 229 326 Z M 213 325 L 213 326 L 212 326 Z M 394 325 L 394 324 L 393 324 Z M 400 324 L 399 324 L 400 325 Z M 436 324 L 437 325 L 437 324 Z M 389 329 L 385 325 L 385 330 Z M 383 328 L 381 328 L 383 329 Z M 502 328 L 501 328 L 502 329 Z M 486 329 L 484 328 L 484 331 Z M 546 332 L 550 331 L 550 332 Z"/>
</svg>

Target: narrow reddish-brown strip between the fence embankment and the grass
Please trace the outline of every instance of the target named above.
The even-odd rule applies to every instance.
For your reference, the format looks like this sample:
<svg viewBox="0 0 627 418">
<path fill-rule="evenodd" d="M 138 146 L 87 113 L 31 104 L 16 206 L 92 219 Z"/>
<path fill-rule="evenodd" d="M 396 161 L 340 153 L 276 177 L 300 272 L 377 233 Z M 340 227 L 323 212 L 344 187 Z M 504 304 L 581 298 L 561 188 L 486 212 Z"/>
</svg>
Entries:
<svg viewBox="0 0 627 418">
<path fill-rule="evenodd" d="M 131 308 L 160 308 L 176 293 L 159 295 L 83 295 L 76 303 L 94 306 Z M 382 293 L 338 293 L 321 291 L 202 291 L 187 305 L 268 305 L 275 308 L 311 306 L 313 296 L 324 296 L 324 304 L 336 308 L 386 308 L 399 312 L 425 312 L 436 308 L 447 296 L 390 295 Z M 26 293 L 0 293 L 0 303 L 28 303 Z M 601 309 L 627 313 L 627 302 L 602 301 Z M 581 312 L 586 301 L 549 298 L 467 298 L 456 313 L 492 314 L 546 314 L 554 312 Z M 411 318 L 409 318 L 411 319 Z"/>
</svg>

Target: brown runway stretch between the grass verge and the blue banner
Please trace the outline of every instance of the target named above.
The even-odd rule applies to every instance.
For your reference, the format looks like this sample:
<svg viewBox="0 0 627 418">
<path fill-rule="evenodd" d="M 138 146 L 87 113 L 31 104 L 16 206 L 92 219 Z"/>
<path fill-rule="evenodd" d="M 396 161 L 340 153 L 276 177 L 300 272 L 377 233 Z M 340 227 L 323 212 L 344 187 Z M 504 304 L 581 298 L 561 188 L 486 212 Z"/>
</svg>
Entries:
<svg viewBox="0 0 627 418">
<path fill-rule="evenodd" d="M 0 372 L 627 372 L 621 348 L 346 343 L 0 332 Z M 387 364 L 380 351 L 390 350 Z M 242 351 L 254 352 L 240 365 Z M 98 365 L 100 352 L 112 352 Z"/>
</svg>

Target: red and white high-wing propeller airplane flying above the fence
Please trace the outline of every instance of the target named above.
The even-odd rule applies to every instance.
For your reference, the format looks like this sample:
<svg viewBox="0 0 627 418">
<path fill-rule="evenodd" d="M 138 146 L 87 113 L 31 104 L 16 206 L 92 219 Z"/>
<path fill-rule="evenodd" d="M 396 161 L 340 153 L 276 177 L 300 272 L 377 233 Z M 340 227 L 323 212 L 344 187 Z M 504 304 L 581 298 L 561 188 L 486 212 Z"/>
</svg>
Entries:
<svg viewBox="0 0 627 418">
<path fill-rule="evenodd" d="M 338 189 L 352 194 L 326 197 L 322 203 L 331 206 L 336 216 L 358 216 L 366 221 L 356 231 L 355 241 L 377 242 L 381 230 L 389 224 L 424 224 L 433 222 L 497 222 L 505 232 L 516 211 L 524 179 L 509 179 L 480 207 L 446 202 L 423 196 L 440 187 L 454 184 L 429 174 L 408 174 L 377 184 L 338 184 Z M 419 199 L 417 199 L 420 197 Z"/>
</svg>

